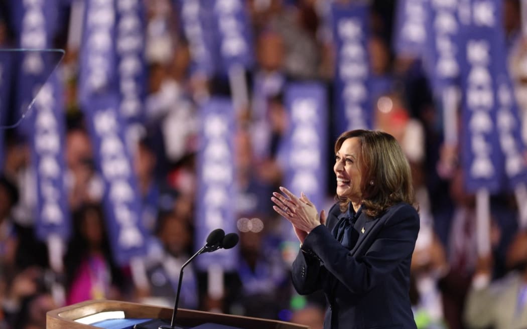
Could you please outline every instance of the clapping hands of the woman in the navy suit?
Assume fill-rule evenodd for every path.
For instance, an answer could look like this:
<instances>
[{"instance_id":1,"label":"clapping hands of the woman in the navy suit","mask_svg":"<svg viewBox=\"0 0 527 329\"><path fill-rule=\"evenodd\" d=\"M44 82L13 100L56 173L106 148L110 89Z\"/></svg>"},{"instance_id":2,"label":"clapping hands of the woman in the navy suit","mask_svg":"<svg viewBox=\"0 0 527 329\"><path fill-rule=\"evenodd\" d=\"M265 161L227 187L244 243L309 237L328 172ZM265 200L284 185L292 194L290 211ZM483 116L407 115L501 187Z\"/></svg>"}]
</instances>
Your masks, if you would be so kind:
<instances>
[{"instance_id":1,"label":"clapping hands of the woman in the navy suit","mask_svg":"<svg viewBox=\"0 0 527 329\"><path fill-rule=\"evenodd\" d=\"M304 193L300 198L292 194L287 188L280 187L285 195L273 192L272 202L276 205L272 208L281 216L284 216L296 228L306 233L311 232L313 228L324 224L325 216L318 214L317 208Z\"/></svg>"}]
</instances>

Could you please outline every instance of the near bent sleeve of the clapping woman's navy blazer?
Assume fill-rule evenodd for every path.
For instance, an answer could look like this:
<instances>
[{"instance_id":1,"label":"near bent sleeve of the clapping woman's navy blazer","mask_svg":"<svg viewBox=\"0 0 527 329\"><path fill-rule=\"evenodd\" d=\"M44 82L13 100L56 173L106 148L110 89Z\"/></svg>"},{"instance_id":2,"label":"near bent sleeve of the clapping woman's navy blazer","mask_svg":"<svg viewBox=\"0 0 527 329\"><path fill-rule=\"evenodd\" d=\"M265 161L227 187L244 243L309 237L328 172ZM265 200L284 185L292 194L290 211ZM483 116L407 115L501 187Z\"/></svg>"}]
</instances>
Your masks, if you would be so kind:
<instances>
[{"instance_id":1,"label":"near bent sleeve of the clapping woman's navy blazer","mask_svg":"<svg viewBox=\"0 0 527 329\"><path fill-rule=\"evenodd\" d=\"M376 221L383 225L365 253L352 256L323 225L317 226L304 241L324 263L327 271L352 293L372 290L414 251L419 216L415 209L404 204L387 212Z\"/></svg>"}]
</instances>

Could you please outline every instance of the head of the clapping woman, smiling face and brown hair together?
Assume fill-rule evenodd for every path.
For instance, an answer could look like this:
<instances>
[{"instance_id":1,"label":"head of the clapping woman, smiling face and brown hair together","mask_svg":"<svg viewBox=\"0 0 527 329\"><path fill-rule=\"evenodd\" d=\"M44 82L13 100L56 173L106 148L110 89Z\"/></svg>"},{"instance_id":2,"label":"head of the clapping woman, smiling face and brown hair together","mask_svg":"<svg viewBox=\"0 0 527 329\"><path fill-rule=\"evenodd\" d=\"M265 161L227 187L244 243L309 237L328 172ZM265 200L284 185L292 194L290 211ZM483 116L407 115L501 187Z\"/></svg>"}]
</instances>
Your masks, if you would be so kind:
<instances>
[{"instance_id":1,"label":"head of the clapping woman, smiling face and brown hair together","mask_svg":"<svg viewBox=\"0 0 527 329\"><path fill-rule=\"evenodd\" d=\"M410 166L392 135L365 130L341 134L333 170L343 212L349 202L355 211L364 203L365 212L375 217L398 202L415 202ZM350 186L346 180L351 180Z\"/></svg>"}]
</instances>

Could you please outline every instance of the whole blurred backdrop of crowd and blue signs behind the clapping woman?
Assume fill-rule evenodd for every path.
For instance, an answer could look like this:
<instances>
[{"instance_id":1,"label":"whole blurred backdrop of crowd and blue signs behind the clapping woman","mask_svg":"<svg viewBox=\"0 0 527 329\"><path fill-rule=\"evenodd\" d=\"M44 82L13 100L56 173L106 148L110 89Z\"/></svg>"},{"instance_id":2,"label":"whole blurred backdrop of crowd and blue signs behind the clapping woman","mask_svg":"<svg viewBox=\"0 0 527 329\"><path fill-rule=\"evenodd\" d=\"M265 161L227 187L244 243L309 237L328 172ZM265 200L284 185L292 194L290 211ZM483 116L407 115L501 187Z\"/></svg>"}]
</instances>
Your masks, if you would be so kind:
<instances>
[{"instance_id":1,"label":"whole blurred backdrop of crowd and blue signs behind the clapping woman","mask_svg":"<svg viewBox=\"0 0 527 329\"><path fill-rule=\"evenodd\" d=\"M325 297L292 289L298 240L270 197L329 210L334 141L355 128L394 135L412 166L418 327L471 327L473 275L527 264L510 248L527 239L525 11L0 0L0 328L97 298L171 307L215 228L240 243L186 268L180 307L321 328Z\"/></svg>"}]
</instances>

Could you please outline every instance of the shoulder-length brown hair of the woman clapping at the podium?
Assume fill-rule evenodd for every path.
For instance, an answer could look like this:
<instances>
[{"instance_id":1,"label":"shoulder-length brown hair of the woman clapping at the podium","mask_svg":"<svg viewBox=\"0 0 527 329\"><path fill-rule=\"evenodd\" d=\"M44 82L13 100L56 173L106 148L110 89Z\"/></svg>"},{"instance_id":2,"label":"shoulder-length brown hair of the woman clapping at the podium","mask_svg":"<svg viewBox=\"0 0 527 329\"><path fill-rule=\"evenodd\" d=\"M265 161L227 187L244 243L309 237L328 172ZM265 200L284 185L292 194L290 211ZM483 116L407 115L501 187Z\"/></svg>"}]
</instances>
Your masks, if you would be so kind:
<instances>
[{"instance_id":1,"label":"shoulder-length brown hair of the woman clapping at the podium","mask_svg":"<svg viewBox=\"0 0 527 329\"><path fill-rule=\"evenodd\" d=\"M346 139L353 137L358 138L360 142L360 191L364 212L377 217L388 207L399 202L416 206L410 166L396 139L380 131L347 131L337 138L335 153ZM350 200L338 196L337 200L340 203L340 211L345 212Z\"/></svg>"}]
</instances>

